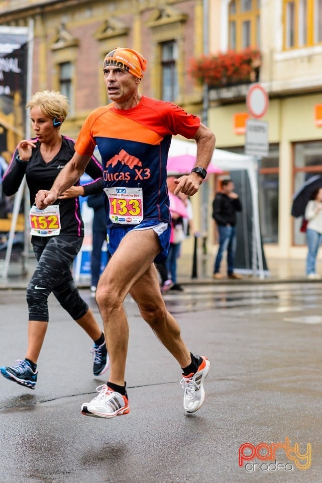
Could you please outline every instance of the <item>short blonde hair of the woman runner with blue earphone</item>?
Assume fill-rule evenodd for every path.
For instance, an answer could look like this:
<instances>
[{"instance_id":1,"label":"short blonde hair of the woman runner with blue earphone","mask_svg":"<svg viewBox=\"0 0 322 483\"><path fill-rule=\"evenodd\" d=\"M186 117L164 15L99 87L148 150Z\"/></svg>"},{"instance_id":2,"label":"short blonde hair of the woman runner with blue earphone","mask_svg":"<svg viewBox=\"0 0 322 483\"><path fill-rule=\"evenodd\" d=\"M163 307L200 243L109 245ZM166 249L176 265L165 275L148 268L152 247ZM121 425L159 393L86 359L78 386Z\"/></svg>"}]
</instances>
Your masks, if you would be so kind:
<instances>
[{"instance_id":1,"label":"short blonde hair of the woman runner with blue earphone","mask_svg":"<svg viewBox=\"0 0 322 483\"><path fill-rule=\"evenodd\" d=\"M26 104L26 109L39 107L52 119L59 118L63 122L69 111L68 99L58 91L36 92Z\"/></svg>"}]
</instances>

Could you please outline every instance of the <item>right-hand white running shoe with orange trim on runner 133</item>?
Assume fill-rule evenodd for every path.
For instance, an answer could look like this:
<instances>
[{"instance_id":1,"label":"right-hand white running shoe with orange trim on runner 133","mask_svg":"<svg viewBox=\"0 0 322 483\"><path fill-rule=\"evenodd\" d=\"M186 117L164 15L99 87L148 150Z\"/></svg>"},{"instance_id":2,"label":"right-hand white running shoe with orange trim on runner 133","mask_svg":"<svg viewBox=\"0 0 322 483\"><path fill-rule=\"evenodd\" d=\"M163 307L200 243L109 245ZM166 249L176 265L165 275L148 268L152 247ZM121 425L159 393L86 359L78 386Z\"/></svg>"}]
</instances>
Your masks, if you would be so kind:
<instances>
[{"instance_id":1,"label":"right-hand white running shoe with orange trim on runner 133","mask_svg":"<svg viewBox=\"0 0 322 483\"><path fill-rule=\"evenodd\" d=\"M184 388L183 407L187 413L194 413L201 408L204 401L203 381L210 369L210 362L201 356L202 362L197 372L185 376L182 374L181 385Z\"/></svg>"}]
</instances>

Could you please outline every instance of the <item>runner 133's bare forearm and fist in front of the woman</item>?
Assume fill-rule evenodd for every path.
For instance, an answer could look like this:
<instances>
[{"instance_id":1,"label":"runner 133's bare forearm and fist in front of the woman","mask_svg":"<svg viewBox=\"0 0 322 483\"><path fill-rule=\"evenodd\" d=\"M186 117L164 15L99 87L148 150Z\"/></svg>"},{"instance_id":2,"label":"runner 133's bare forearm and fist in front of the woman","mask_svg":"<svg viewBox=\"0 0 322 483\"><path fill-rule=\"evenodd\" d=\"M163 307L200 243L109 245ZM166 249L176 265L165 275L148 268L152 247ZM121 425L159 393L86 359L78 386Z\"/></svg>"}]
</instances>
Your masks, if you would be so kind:
<instances>
[{"instance_id":1,"label":"runner 133's bare forearm and fist in front of the woman","mask_svg":"<svg viewBox=\"0 0 322 483\"><path fill-rule=\"evenodd\" d=\"M36 195L36 206L43 210L52 205L64 191L73 186L84 173L91 156L81 155L75 152L70 161L61 170L53 186L48 190L39 190Z\"/></svg>"}]
</instances>

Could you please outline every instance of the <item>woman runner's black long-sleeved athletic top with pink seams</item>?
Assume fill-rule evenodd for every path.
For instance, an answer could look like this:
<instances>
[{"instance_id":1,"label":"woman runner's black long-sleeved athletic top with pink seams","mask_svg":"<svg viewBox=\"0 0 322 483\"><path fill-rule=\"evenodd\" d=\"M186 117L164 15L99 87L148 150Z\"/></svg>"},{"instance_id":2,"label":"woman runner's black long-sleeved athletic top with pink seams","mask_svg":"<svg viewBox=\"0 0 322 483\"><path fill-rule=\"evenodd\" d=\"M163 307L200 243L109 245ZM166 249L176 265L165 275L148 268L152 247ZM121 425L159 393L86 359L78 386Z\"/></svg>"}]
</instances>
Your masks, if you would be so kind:
<instances>
[{"instance_id":1,"label":"woman runner's black long-sleeved athletic top with pink seams","mask_svg":"<svg viewBox=\"0 0 322 483\"><path fill-rule=\"evenodd\" d=\"M7 196L15 194L26 175L27 185L30 191L30 205L35 203L36 194L39 190L50 190L60 170L68 163L75 153L75 141L62 136L62 144L59 152L49 162L45 163L40 153L40 142L34 139L36 147L32 150L31 158L27 163L17 161L18 149L15 150L11 164L3 178L3 192ZM85 169L93 181L82 185L84 196L102 192L103 178L102 168L97 159L92 157ZM79 180L74 186L79 186ZM84 225L80 215L78 197L57 200L61 219L61 234L84 236Z\"/></svg>"}]
</instances>

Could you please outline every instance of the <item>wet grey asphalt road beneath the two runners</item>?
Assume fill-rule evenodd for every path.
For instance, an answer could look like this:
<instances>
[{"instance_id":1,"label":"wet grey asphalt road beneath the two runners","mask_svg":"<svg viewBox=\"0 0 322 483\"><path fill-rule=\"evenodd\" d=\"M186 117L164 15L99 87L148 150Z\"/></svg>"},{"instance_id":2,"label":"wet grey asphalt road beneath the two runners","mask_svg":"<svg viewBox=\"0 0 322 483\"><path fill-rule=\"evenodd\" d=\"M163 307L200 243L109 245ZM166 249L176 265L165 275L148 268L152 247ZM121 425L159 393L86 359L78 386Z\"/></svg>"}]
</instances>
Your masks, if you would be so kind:
<instances>
[{"instance_id":1,"label":"wet grey asphalt road beneath the two runners","mask_svg":"<svg viewBox=\"0 0 322 483\"><path fill-rule=\"evenodd\" d=\"M128 298L131 412L113 420L80 414L106 379L92 376L90 340L50 297L36 390L0 377L0 483L319 483L321 294L320 284L292 283L166 295L190 350L211 362L194 415L183 411L177 363ZM8 365L25 355L25 292L1 290L0 311Z\"/></svg>"}]
</instances>

